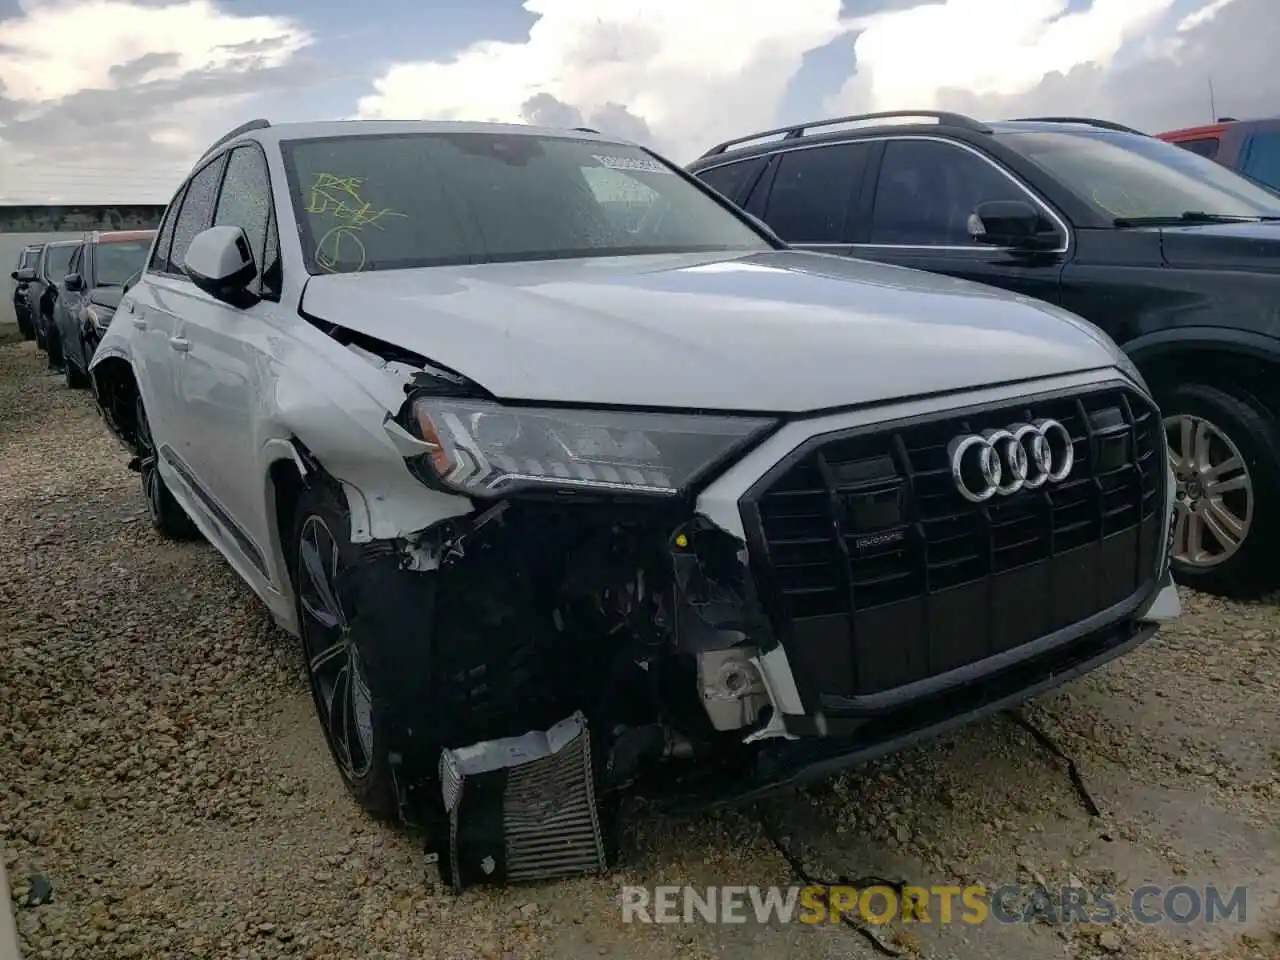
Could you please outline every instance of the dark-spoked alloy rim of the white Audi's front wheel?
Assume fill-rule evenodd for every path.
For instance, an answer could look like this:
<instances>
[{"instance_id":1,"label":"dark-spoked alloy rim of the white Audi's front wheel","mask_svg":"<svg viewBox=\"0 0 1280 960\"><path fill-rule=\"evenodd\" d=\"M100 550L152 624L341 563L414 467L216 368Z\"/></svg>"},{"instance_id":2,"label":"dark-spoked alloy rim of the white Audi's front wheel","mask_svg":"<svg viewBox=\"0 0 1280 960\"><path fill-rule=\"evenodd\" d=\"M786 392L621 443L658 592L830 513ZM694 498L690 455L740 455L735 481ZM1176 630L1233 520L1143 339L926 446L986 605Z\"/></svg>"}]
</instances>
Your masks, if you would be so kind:
<instances>
[{"instance_id":1,"label":"dark-spoked alloy rim of the white Audi's front wheel","mask_svg":"<svg viewBox=\"0 0 1280 960\"><path fill-rule=\"evenodd\" d=\"M325 737L342 772L364 780L372 767L374 709L360 650L334 589L338 541L324 520L307 517L298 543L302 646Z\"/></svg>"}]
</instances>

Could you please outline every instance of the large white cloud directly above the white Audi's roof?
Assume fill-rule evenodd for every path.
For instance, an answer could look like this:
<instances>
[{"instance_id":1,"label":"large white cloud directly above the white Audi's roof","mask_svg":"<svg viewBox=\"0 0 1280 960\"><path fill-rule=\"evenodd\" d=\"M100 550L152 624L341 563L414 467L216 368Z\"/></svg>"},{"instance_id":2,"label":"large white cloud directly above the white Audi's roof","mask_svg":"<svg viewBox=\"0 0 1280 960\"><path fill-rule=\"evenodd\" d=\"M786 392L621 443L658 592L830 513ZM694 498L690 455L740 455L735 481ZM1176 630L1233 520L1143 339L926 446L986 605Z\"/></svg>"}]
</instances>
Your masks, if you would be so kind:
<instances>
[{"instance_id":1,"label":"large white cloud directly above the white Audi's roof","mask_svg":"<svg viewBox=\"0 0 1280 960\"><path fill-rule=\"evenodd\" d=\"M687 159L772 119L805 51L844 31L840 0L527 0L525 9L539 18L525 42L396 64L360 115L570 119Z\"/></svg>"}]
</instances>

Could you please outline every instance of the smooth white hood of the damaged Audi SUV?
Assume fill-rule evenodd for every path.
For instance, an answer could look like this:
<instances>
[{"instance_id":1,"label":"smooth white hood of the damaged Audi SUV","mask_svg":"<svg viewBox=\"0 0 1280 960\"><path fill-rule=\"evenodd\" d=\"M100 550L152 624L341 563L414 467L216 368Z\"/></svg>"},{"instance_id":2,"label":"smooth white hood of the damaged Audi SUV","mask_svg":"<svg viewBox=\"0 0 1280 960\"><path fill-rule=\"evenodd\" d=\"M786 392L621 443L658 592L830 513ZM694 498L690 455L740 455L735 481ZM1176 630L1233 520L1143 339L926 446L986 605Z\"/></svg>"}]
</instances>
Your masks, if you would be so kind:
<instances>
[{"instance_id":1,"label":"smooth white hood of the damaged Audi SUV","mask_svg":"<svg viewBox=\"0 0 1280 960\"><path fill-rule=\"evenodd\" d=\"M1114 364L1041 301L799 251L321 275L302 310L503 399L782 413Z\"/></svg>"}]
</instances>

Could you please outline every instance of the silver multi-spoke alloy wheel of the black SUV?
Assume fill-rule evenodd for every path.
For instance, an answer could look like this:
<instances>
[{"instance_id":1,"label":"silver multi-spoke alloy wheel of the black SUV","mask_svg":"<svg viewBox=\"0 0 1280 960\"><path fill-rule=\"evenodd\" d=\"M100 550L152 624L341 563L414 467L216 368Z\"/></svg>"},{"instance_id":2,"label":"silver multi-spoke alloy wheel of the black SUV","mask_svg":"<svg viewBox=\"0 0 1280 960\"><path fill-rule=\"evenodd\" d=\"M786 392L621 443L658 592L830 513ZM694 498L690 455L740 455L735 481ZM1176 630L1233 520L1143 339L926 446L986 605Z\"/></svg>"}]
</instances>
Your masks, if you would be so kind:
<instances>
[{"instance_id":1,"label":"silver multi-spoke alloy wheel of the black SUV","mask_svg":"<svg viewBox=\"0 0 1280 960\"><path fill-rule=\"evenodd\" d=\"M1240 549L1253 522L1253 480L1240 448L1203 417L1165 417L1174 471L1172 558L1215 567Z\"/></svg>"}]
</instances>

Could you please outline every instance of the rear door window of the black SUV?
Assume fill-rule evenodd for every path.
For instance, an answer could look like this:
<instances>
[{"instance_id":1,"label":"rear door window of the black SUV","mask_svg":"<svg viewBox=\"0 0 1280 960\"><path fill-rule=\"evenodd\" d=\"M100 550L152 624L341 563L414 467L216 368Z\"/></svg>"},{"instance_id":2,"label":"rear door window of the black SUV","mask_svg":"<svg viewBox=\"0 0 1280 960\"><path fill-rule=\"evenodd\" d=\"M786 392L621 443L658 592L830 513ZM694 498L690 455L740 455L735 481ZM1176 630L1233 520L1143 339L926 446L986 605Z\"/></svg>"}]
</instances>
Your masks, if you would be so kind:
<instances>
[{"instance_id":1,"label":"rear door window of the black SUV","mask_svg":"<svg viewBox=\"0 0 1280 960\"><path fill-rule=\"evenodd\" d=\"M870 151L869 143L832 143L782 154L764 221L788 243L850 242L849 206Z\"/></svg>"}]
</instances>

